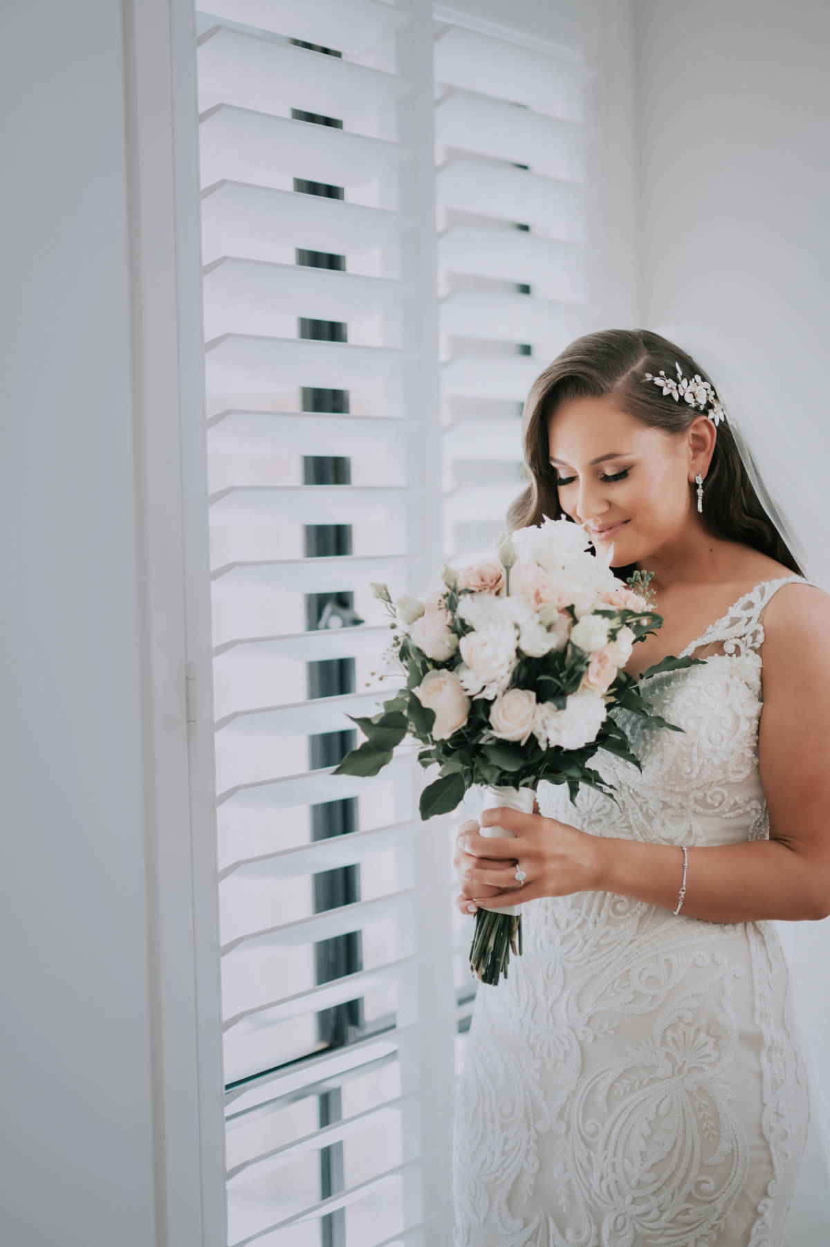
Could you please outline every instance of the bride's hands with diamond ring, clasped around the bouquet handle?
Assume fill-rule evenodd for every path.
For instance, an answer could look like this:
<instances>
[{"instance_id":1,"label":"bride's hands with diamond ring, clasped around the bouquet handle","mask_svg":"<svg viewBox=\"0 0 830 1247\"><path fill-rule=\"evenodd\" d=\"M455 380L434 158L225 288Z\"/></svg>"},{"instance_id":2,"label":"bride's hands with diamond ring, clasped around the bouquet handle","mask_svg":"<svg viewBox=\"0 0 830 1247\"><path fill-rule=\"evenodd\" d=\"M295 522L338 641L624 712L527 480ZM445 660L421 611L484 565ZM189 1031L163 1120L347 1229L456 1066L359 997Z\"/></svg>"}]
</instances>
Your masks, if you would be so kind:
<instances>
[{"instance_id":1,"label":"bride's hands with diamond ring, clasped around the bouquet handle","mask_svg":"<svg viewBox=\"0 0 830 1247\"><path fill-rule=\"evenodd\" d=\"M538 897L567 897L573 892L591 892L599 887L601 837L589 835L568 823L543 814L525 814L507 806L484 809L479 816L480 827L503 827L513 832L508 835L479 835L467 832L459 837L465 853L481 858L506 858L503 868L479 869L471 867L470 878L464 880L464 895L479 899L476 884L503 888L494 897L481 897L487 909L500 905L520 905ZM465 843L466 840L466 843ZM516 867L525 872L525 880L515 878Z\"/></svg>"}]
</instances>

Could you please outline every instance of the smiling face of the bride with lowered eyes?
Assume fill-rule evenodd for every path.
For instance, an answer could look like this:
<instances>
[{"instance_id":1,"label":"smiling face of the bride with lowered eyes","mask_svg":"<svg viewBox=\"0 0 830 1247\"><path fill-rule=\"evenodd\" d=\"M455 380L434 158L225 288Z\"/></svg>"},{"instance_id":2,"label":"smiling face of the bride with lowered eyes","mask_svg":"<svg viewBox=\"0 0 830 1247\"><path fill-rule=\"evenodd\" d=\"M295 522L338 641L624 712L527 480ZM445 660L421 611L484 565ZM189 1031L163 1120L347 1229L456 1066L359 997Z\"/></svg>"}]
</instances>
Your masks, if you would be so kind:
<instances>
[{"instance_id":1,"label":"smiling face of the bride with lowered eyes","mask_svg":"<svg viewBox=\"0 0 830 1247\"><path fill-rule=\"evenodd\" d=\"M643 562L688 526L687 438L641 424L607 397L580 398L551 416L548 448L562 510L599 554L613 544L614 567Z\"/></svg>"}]
</instances>

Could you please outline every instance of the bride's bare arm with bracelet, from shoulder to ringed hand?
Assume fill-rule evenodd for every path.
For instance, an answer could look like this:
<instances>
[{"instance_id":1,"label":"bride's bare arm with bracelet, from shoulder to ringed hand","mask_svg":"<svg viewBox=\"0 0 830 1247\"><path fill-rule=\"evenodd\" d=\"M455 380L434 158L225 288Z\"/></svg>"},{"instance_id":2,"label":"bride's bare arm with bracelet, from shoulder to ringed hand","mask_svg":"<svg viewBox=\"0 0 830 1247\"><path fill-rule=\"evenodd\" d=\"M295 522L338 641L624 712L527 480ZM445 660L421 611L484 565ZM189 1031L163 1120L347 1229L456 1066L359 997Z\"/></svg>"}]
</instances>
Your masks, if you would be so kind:
<instances>
[{"instance_id":1,"label":"bride's bare arm with bracelet, from shoulder to ringed hand","mask_svg":"<svg viewBox=\"0 0 830 1247\"><path fill-rule=\"evenodd\" d=\"M764 628L759 763L770 838L689 847L682 913L709 922L830 914L830 595L813 586L784 586L765 611ZM523 819L520 837L532 862L521 888L506 884L501 872L506 890L487 897L489 907L581 889L677 907L683 878L678 845L586 835L553 819L543 819L548 827L540 834L540 828L530 826L540 817L482 813L482 823L501 822L511 831ZM469 852L479 852L481 840L494 858L507 857L511 844L513 858L523 852L516 840L475 835L471 840L476 847ZM496 845L503 845L503 853ZM497 880L482 874L480 882ZM465 893L475 897L469 888Z\"/></svg>"}]
</instances>

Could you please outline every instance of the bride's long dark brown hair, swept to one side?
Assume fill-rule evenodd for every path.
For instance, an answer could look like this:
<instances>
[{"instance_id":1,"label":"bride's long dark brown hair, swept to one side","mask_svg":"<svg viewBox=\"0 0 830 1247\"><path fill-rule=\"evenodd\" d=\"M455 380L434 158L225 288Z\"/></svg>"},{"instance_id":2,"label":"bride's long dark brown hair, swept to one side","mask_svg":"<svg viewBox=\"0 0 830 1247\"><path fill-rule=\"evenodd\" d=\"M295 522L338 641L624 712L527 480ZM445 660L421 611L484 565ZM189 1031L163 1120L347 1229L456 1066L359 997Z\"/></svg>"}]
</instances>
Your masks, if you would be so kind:
<instances>
[{"instance_id":1,"label":"bride's long dark brown hair, swept to one side","mask_svg":"<svg viewBox=\"0 0 830 1247\"><path fill-rule=\"evenodd\" d=\"M672 402L644 377L646 373L657 375L663 369L667 377L675 378L675 360L684 377L697 373L717 393L718 387L692 355L649 329L586 333L540 373L522 413L525 479L528 485L507 511L511 532L541 524L545 515L558 519L563 514L548 449L548 421L560 403L576 398L613 397L621 410L649 428L678 434L688 429L692 420L700 415L700 409L683 400ZM705 489L702 521L713 536L739 541L803 575L753 489L729 428L729 412L718 425Z\"/></svg>"}]
</instances>

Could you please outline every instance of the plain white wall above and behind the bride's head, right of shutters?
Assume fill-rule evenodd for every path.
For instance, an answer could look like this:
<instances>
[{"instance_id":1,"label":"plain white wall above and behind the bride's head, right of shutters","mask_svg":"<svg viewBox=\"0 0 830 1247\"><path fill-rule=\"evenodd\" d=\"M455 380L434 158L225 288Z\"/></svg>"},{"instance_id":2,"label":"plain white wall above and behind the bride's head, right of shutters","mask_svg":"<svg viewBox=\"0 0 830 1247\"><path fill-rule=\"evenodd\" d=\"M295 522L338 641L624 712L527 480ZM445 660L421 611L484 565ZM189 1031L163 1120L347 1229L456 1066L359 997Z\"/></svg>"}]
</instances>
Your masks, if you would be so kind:
<instances>
[{"instance_id":1,"label":"plain white wall above and behind the bride's head, right of shutters","mask_svg":"<svg viewBox=\"0 0 830 1247\"><path fill-rule=\"evenodd\" d=\"M739 360L770 489L818 516L830 577L830 5L634 0L633 47L641 323L705 324Z\"/></svg>"}]
</instances>

